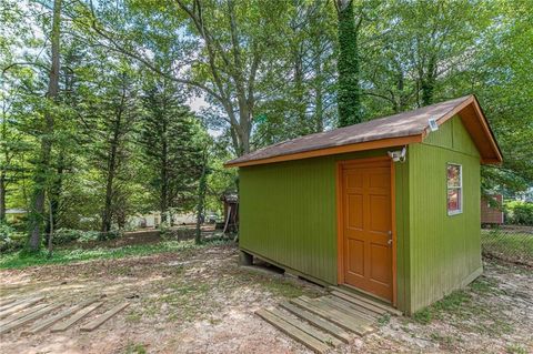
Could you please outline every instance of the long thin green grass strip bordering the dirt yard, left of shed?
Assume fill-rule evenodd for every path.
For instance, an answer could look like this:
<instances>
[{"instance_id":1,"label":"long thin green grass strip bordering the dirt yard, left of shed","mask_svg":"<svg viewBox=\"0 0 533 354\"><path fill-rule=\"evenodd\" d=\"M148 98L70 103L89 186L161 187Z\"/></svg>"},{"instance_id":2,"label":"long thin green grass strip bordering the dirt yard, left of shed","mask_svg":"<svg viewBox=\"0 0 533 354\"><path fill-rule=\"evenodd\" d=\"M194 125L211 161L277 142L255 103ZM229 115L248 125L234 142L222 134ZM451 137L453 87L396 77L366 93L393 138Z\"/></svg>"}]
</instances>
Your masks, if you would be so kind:
<instances>
[{"instance_id":1,"label":"long thin green grass strip bordering the dirt yard, left of shed","mask_svg":"<svg viewBox=\"0 0 533 354\"><path fill-rule=\"evenodd\" d=\"M223 244L227 241L212 241L195 245L193 241L165 241L157 244L125 245L115 249L93 250L57 250L52 257L48 257L47 251L37 254L24 255L21 252L0 256L0 269L22 269L33 265L67 264L80 261L122 259L128 256L143 256L158 253L180 252L184 250L200 249L205 245Z\"/></svg>"}]
</instances>

